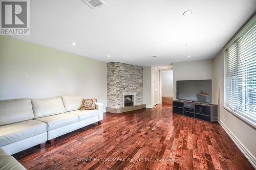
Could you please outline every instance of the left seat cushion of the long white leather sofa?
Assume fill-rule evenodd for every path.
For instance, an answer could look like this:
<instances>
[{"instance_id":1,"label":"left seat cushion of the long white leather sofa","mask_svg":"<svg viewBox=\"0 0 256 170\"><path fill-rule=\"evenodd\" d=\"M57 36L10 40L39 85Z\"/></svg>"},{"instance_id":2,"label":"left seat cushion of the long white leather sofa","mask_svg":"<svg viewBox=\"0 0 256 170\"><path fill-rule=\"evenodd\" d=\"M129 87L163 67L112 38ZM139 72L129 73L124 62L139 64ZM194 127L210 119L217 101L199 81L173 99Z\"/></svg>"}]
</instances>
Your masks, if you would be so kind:
<instances>
[{"instance_id":1,"label":"left seat cushion of the long white leather sofa","mask_svg":"<svg viewBox=\"0 0 256 170\"><path fill-rule=\"evenodd\" d=\"M37 120L0 126L0 147L46 132L46 124Z\"/></svg>"}]
</instances>

